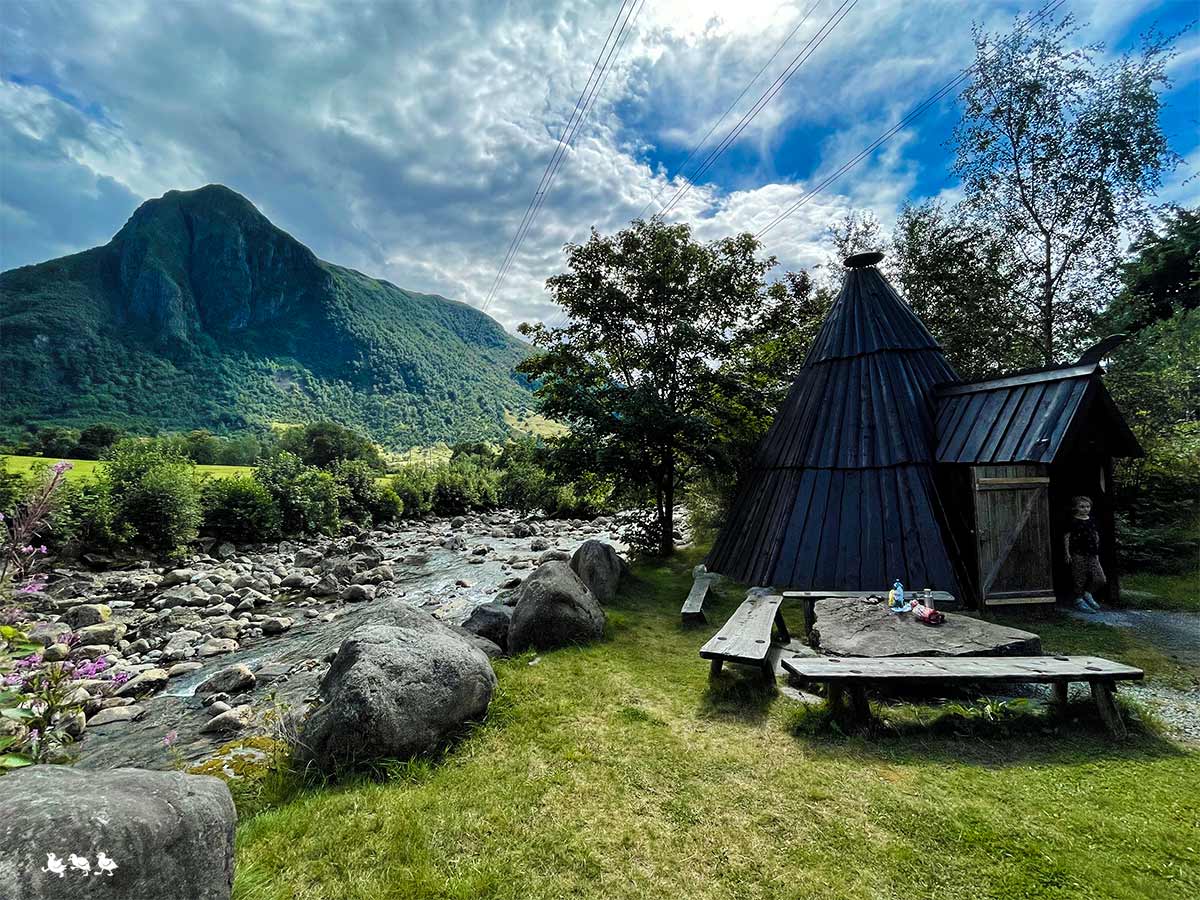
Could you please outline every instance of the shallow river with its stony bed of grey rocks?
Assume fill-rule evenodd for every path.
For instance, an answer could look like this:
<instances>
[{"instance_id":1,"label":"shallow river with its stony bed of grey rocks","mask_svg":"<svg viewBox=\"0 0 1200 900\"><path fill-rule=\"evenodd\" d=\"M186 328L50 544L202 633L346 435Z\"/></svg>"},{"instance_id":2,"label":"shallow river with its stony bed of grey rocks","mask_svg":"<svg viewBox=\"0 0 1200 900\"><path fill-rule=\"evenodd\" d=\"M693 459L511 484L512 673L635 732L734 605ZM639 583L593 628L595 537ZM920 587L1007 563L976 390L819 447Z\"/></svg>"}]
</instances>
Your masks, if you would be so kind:
<instances>
[{"instance_id":1,"label":"shallow river with its stony bed of grey rocks","mask_svg":"<svg viewBox=\"0 0 1200 900\"><path fill-rule=\"evenodd\" d=\"M380 604L458 624L589 539L622 548L607 518L496 512L336 540L223 544L169 569L60 568L32 635L47 660L100 670L78 682L78 766L169 768L302 712L332 653Z\"/></svg>"}]
</instances>

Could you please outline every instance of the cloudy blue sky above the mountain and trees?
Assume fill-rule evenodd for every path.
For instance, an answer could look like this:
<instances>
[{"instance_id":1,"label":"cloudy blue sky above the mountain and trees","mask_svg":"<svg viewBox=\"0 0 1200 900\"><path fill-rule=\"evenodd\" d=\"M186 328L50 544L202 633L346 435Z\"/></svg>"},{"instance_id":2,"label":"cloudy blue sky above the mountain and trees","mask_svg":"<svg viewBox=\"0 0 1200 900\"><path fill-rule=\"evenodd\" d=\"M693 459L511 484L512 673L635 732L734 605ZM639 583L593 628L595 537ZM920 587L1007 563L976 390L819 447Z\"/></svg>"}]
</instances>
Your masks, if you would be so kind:
<instances>
[{"instance_id":1,"label":"cloudy blue sky above the mountain and trees","mask_svg":"<svg viewBox=\"0 0 1200 900\"><path fill-rule=\"evenodd\" d=\"M685 186L680 163L793 30L697 158L845 13L668 214L697 238L757 232L970 65L972 23L1007 30L1040 5L646 0L488 313L553 320L563 245ZM145 199L220 182L323 259L484 306L620 7L0 0L0 269L104 244ZM1117 54L1200 2L1061 11ZM1186 205L1200 203L1198 31L1163 98L1182 163L1159 199ZM955 199L956 120L950 95L769 232L775 274L826 260L851 209L888 226L905 202Z\"/></svg>"}]
</instances>

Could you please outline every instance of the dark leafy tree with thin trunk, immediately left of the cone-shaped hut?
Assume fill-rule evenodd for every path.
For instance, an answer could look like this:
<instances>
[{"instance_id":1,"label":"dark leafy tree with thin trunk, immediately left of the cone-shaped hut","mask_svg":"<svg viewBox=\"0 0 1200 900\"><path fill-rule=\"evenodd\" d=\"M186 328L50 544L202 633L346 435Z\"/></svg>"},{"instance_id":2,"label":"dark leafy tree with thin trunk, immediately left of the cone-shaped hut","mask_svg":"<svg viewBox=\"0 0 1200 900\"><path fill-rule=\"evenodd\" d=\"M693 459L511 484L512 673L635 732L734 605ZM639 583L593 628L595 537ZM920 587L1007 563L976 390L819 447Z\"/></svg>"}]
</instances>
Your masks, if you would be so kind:
<instances>
[{"instance_id":1,"label":"dark leafy tree with thin trunk, immediately left of the cone-shaped hut","mask_svg":"<svg viewBox=\"0 0 1200 900\"><path fill-rule=\"evenodd\" d=\"M540 412L570 428L552 443L577 472L653 506L664 556L679 492L710 458L716 401L736 390L722 367L763 301L774 260L757 250L749 234L701 244L658 220L593 232L546 282L568 324L520 329L540 353L518 371L539 384Z\"/></svg>"}]
</instances>

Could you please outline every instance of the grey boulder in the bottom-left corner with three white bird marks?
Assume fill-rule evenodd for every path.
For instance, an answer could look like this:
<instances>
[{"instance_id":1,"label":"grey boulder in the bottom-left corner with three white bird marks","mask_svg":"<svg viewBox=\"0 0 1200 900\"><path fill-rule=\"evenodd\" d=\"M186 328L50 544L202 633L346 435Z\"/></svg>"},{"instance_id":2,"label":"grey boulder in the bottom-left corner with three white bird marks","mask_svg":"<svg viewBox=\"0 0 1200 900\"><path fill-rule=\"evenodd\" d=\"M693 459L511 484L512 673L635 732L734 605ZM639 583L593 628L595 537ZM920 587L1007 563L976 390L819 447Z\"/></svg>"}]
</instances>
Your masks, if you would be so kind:
<instances>
[{"instance_id":1,"label":"grey boulder in the bottom-left corner with three white bird marks","mask_svg":"<svg viewBox=\"0 0 1200 900\"><path fill-rule=\"evenodd\" d=\"M236 812L208 775L30 766L4 778L0 896L227 900Z\"/></svg>"}]
</instances>

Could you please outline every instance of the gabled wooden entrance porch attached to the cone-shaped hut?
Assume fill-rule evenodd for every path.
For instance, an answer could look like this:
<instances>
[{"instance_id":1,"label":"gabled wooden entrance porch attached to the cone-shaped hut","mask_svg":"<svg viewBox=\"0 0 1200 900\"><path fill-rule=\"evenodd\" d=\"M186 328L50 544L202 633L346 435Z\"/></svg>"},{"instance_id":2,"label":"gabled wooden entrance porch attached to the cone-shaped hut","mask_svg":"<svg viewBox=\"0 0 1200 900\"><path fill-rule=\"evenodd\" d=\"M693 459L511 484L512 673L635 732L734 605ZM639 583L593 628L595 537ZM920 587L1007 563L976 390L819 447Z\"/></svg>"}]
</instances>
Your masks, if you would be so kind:
<instances>
[{"instance_id":1,"label":"gabled wooden entrance porch attached to the cone-shaped hut","mask_svg":"<svg viewBox=\"0 0 1200 900\"><path fill-rule=\"evenodd\" d=\"M1120 594L1112 458L1141 448L1098 362L942 385L937 481L961 541L962 582L983 606L1069 599L1063 533L1070 499L1092 498L1109 596Z\"/></svg>"}]
</instances>

